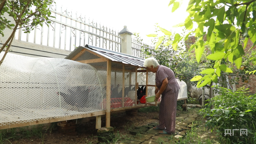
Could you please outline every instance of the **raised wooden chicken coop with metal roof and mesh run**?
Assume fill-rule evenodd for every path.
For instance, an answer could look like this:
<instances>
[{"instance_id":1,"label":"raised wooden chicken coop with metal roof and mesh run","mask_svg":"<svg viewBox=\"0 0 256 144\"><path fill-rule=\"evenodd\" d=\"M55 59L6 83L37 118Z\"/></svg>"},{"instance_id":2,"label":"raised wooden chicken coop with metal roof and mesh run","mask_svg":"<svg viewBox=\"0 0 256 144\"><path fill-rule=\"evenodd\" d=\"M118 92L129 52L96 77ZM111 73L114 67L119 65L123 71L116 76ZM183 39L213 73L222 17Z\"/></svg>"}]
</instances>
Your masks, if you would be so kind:
<instances>
[{"instance_id":1,"label":"raised wooden chicken coop with metal roof and mesh run","mask_svg":"<svg viewBox=\"0 0 256 144\"><path fill-rule=\"evenodd\" d=\"M0 54L0 56L3 54ZM86 45L65 59L8 53L1 65L0 129L52 123L156 106L141 101L155 91L155 74L144 59ZM187 98L180 85L178 100ZM100 123L96 128L100 128Z\"/></svg>"}]
</instances>

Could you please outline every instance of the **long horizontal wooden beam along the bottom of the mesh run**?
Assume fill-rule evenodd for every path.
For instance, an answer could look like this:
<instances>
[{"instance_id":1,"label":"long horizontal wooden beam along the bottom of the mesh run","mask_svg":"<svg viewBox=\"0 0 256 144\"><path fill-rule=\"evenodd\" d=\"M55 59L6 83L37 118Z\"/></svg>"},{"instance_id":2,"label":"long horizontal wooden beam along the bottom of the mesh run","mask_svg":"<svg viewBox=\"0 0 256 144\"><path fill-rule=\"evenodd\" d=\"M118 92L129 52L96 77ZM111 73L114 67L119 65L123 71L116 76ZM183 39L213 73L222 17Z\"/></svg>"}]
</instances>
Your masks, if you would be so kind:
<instances>
[{"instance_id":1,"label":"long horizontal wooden beam along the bottom of the mesh run","mask_svg":"<svg viewBox=\"0 0 256 144\"><path fill-rule=\"evenodd\" d=\"M74 120L74 119L78 119L78 118L98 116L98 115L103 115L103 114L105 114L104 111L98 111L98 112L93 112L93 113L89 113L89 114L80 114L80 115L67 116L67 117L61 117L61 118L49 118L47 120L33 121L33 122L27 122L27 123L14 123L14 124L8 123L8 125L0 126L0 130L22 127L22 126L30 126L30 125L36 125L36 124L44 124L44 123L61 122L61 121L66 121L66 120Z\"/></svg>"}]
</instances>

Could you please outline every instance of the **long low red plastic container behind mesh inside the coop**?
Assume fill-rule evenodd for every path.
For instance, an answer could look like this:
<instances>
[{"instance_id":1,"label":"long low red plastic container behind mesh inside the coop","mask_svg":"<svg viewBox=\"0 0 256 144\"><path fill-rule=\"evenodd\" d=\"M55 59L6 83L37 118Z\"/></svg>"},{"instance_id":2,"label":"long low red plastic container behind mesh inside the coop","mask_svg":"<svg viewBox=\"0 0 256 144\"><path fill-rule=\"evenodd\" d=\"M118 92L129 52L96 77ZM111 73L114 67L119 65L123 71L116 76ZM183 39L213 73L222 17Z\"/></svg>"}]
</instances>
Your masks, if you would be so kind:
<instances>
[{"instance_id":1,"label":"long low red plastic container behind mesh inside the coop","mask_svg":"<svg viewBox=\"0 0 256 144\"><path fill-rule=\"evenodd\" d=\"M124 107L132 106L135 102L130 97L124 97ZM102 105L102 103L101 103ZM103 99L103 106L106 109L106 98ZM111 98L110 108L122 107L122 98Z\"/></svg>"}]
</instances>

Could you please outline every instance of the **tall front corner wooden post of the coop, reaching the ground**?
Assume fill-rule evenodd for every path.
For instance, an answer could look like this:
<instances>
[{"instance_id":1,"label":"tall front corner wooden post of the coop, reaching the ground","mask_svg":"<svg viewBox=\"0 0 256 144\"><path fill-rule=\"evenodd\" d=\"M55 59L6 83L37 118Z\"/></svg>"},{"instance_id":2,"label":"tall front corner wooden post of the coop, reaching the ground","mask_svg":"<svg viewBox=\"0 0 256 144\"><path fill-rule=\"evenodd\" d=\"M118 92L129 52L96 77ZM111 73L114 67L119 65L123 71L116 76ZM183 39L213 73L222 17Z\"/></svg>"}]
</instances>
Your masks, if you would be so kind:
<instances>
[{"instance_id":1,"label":"tall front corner wooden post of the coop, reaching the ground","mask_svg":"<svg viewBox=\"0 0 256 144\"><path fill-rule=\"evenodd\" d=\"M106 128L110 127L110 95L111 95L111 60L107 60L107 109Z\"/></svg>"}]
</instances>

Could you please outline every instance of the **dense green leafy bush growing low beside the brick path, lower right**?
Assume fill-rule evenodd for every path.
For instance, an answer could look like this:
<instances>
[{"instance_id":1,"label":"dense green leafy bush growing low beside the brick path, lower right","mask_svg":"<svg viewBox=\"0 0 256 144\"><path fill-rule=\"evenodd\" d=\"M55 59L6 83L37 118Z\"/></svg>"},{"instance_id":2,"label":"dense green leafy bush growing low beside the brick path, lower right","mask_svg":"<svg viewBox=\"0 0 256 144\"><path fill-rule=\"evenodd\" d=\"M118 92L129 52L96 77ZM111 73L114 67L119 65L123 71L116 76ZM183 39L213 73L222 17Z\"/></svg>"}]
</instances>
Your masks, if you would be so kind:
<instances>
[{"instance_id":1,"label":"dense green leafy bush growing low beside the brick path, lower right","mask_svg":"<svg viewBox=\"0 0 256 144\"><path fill-rule=\"evenodd\" d=\"M248 89L240 88L233 92L223 87L216 87L220 90L221 95L211 99L206 104L201 113L207 118L206 126L208 130L217 129L217 132L230 142L247 141L254 143L256 129L256 95L250 95ZM209 105L214 105L210 109ZM234 136L224 135L225 129L248 129L248 135L240 136L235 133Z\"/></svg>"}]
</instances>

